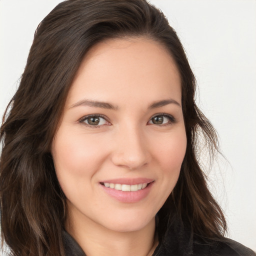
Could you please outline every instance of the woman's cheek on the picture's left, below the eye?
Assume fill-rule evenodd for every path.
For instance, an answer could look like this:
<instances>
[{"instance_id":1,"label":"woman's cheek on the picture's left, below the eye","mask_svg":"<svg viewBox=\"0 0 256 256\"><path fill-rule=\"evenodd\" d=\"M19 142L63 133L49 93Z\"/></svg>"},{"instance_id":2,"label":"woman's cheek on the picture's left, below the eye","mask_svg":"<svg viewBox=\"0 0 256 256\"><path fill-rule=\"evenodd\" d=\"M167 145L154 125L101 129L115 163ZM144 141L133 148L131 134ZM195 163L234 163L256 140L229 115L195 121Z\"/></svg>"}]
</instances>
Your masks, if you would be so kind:
<instances>
[{"instance_id":1,"label":"woman's cheek on the picture's left, below the eye","mask_svg":"<svg viewBox=\"0 0 256 256\"><path fill-rule=\"evenodd\" d=\"M66 135L70 134L70 135ZM101 150L99 150L101 148ZM104 158L100 140L59 129L52 143L52 156L59 181L92 176ZM76 180L77 181L77 180Z\"/></svg>"}]
</instances>

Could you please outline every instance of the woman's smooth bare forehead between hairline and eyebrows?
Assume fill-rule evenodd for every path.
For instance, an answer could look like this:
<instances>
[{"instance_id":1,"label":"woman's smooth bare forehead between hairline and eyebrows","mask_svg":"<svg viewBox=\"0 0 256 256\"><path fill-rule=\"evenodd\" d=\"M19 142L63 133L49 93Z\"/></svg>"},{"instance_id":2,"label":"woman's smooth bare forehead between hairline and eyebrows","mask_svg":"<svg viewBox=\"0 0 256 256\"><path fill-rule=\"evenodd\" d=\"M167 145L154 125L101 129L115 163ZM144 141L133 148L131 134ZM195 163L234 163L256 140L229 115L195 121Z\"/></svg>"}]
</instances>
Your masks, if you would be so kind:
<instances>
[{"instance_id":1,"label":"woman's smooth bare forehead between hairline and eyebrows","mask_svg":"<svg viewBox=\"0 0 256 256\"><path fill-rule=\"evenodd\" d=\"M146 38L109 39L87 52L67 101L82 96L125 101L145 95L157 100L166 94L181 100L179 72L166 48Z\"/></svg>"}]
</instances>

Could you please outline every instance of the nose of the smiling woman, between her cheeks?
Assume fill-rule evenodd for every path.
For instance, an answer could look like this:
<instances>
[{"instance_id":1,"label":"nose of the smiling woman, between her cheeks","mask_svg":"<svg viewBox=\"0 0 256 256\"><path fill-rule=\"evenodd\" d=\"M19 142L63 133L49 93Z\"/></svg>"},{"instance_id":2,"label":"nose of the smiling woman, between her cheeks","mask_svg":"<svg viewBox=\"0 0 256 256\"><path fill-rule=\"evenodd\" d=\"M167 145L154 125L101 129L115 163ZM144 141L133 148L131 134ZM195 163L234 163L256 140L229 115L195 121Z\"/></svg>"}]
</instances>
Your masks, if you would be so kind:
<instances>
[{"instance_id":1,"label":"nose of the smiling woman, between her cheeks","mask_svg":"<svg viewBox=\"0 0 256 256\"><path fill-rule=\"evenodd\" d=\"M111 160L115 165L128 169L138 169L149 162L148 144L139 128L120 127L114 140L115 146Z\"/></svg>"}]
</instances>

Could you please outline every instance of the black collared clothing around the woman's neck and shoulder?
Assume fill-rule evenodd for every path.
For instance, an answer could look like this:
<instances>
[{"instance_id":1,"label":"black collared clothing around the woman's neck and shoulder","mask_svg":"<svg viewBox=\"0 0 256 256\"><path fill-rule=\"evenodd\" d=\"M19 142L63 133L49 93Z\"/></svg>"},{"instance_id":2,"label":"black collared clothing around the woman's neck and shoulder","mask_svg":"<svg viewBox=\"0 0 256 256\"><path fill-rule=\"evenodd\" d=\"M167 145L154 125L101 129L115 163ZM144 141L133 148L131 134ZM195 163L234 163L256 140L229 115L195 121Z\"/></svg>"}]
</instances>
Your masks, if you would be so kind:
<instances>
[{"instance_id":1,"label":"black collared clothing around the woman's neck and shoulder","mask_svg":"<svg viewBox=\"0 0 256 256\"><path fill-rule=\"evenodd\" d=\"M159 244L153 256L256 256L251 249L234 240L224 237L218 241L202 239L181 225L171 225L163 235L159 235L158 232ZM63 231L63 240L65 256L85 256L66 231Z\"/></svg>"}]
</instances>

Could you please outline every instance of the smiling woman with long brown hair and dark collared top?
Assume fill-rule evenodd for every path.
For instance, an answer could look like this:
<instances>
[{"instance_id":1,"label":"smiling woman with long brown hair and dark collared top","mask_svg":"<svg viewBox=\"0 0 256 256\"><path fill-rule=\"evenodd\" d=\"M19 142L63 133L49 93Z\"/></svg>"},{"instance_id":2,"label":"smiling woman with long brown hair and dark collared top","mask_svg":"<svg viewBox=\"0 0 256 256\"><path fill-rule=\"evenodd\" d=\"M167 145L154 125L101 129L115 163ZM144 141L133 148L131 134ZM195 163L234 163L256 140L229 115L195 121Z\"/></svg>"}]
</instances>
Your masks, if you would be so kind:
<instances>
[{"instance_id":1,"label":"smiling woman with long brown hair and dark collared top","mask_svg":"<svg viewBox=\"0 0 256 256\"><path fill-rule=\"evenodd\" d=\"M254 255L223 237L196 159L214 128L164 15L67 0L39 24L1 126L2 239L13 255Z\"/></svg>"}]
</instances>

